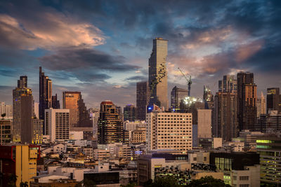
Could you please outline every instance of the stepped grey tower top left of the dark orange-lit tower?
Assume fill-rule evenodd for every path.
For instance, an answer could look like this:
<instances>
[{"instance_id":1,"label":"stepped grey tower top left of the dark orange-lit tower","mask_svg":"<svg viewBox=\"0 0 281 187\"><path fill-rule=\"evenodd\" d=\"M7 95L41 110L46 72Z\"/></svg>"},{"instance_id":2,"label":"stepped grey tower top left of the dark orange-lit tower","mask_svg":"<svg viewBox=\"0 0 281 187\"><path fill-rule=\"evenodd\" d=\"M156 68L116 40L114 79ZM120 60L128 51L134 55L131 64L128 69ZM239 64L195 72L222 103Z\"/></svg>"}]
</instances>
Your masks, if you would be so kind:
<instances>
[{"instance_id":1,"label":"stepped grey tower top left of the dark orange-lit tower","mask_svg":"<svg viewBox=\"0 0 281 187\"><path fill-rule=\"evenodd\" d=\"M223 76L223 80L218 81L218 92L236 92L237 80L235 76Z\"/></svg>"}]
</instances>

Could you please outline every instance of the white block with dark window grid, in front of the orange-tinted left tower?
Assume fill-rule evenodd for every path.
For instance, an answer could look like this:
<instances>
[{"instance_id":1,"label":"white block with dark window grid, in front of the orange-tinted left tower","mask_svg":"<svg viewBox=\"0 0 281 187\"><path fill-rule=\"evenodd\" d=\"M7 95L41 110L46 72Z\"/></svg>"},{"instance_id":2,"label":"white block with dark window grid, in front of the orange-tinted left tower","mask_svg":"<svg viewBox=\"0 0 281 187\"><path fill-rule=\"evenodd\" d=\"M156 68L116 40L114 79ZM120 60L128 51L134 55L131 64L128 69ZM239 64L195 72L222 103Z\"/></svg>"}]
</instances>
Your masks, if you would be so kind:
<instances>
[{"instance_id":1,"label":"white block with dark window grid, in front of the orange-tinted left tower","mask_svg":"<svg viewBox=\"0 0 281 187\"><path fill-rule=\"evenodd\" d=\"M45 128L52 142L70 139L70 109L46 109Z\"/></svg>"}]
</instances>

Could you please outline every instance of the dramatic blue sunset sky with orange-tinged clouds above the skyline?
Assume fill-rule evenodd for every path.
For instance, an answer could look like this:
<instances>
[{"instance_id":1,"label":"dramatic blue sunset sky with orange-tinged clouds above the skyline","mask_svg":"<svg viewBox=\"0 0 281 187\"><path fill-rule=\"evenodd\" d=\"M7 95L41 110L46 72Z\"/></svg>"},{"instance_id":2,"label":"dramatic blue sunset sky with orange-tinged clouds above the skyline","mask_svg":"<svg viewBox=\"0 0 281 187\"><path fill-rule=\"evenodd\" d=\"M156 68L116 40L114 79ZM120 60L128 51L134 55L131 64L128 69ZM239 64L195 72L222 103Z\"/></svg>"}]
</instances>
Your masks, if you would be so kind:
<instances>
[{"instance_id":1,"label":"dramatic blue sunset sky with orange-tinged clouds above the skyline","mask_svg":"<svg viewBox=\"0 0 281 187\"><path fill-rule=\"evenodd\" d=\"M136 103L148 79L152 39L168 39L169 92L185 88L178 67L203 85L254 72L258 91L281 85L281 1L0 1L0 101L11 104L21 75L39 98L39 66L53 95L81 91L88 107Z\"/></svg>"}]
</instances>

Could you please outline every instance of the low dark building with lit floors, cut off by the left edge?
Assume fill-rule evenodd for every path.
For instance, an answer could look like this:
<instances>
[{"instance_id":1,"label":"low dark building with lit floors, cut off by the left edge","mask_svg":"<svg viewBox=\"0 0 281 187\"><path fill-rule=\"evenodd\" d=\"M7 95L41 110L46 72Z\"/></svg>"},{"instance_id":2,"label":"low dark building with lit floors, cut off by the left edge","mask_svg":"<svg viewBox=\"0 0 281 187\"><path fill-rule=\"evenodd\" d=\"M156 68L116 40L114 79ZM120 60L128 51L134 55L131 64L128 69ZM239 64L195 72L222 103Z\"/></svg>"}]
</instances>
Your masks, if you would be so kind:
<instances>
[{"instance_id":1,"label":"low dark building with lit floors, cut off by the left edge","mask_svg":"<svg viewBox=\"0 0 281 187\"><path fill-rule=\"evenodd\" d=\"M0 119L0 145L8 144L12 141L12 120Z\"/></svg>"}]
</instances>

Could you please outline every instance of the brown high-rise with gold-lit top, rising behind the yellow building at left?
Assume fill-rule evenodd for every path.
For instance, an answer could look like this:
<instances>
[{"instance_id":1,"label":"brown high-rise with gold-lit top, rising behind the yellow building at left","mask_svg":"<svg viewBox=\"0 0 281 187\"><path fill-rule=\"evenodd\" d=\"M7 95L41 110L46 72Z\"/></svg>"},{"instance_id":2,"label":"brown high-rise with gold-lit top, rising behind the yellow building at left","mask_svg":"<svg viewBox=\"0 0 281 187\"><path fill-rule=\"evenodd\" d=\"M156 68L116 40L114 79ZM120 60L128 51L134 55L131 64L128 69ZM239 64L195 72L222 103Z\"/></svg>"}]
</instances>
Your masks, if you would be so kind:
<instances>
[{"instance_id":1,"label":"brown high-rise with gold-lit top, rising behind the yellow building at left","mask_svg":"<svg viewBox=\"0 0 281 187\"><path fill-rule=\"evenodd\" d=\"M22 87L13 90L13 141L15 142L32 143L33 102L30 88Z\"/></svg>"}]
</instances>

